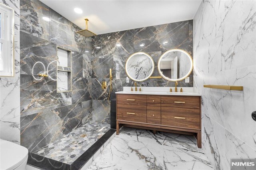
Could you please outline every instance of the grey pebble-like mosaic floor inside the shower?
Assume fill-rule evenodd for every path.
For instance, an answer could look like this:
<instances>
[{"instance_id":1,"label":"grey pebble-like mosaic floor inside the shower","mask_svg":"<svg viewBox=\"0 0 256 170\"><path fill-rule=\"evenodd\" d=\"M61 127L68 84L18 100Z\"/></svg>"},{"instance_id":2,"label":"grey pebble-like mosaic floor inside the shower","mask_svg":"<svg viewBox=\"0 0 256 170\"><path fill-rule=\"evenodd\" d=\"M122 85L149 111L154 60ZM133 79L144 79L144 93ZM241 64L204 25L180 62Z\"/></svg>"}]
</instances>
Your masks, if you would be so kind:
<instances>
[{"instance_id":1,"label":"grey pebble-like mosaic floor inside the shower","mask_svg":"<svg viewBox=\"0 0 256 170\"><path fill-rule=\"evenodd\" d=\"M36 150L34 154L72 164L109 129L109 123L89 121L62 138Z\"/></svg>"}]
</instances>

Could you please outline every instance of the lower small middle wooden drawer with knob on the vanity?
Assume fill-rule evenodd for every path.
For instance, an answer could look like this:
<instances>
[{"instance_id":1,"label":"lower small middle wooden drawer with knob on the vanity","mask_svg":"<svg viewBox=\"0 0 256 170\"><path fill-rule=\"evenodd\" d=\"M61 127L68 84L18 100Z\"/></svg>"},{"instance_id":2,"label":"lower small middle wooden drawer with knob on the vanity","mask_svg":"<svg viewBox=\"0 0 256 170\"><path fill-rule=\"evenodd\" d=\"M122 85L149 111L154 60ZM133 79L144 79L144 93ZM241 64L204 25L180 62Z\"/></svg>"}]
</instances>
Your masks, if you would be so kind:
<instances>
[{"instance_id":1,"label":"lower small middle wooden drawer with knob on the vanity","mask_svg":"<svg viewBox=\"0 0 256 170\"><path fill-rule=\"evenodd\" d=\"M161 125L161 107L147 106L147 123Z\"/></svg>"}]
</instances>

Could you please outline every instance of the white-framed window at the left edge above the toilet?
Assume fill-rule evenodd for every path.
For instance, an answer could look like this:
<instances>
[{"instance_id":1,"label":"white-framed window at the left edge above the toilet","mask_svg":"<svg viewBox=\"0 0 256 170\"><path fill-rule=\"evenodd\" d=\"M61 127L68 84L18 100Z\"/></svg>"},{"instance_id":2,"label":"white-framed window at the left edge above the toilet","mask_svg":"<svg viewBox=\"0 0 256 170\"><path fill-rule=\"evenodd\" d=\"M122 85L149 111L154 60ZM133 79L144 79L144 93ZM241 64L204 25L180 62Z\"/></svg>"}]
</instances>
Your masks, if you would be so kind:
<instances>
[{"instance_id":1,"label":"white-framed window at the left edge above the toilet","mask_svg":"<svg viewBox=\"0 0 256 170\"><path fill-rule=\"evenodd\" d=\"M14 10L0 3L0 76L14 76Z\"/></svg>"}]
</instances>

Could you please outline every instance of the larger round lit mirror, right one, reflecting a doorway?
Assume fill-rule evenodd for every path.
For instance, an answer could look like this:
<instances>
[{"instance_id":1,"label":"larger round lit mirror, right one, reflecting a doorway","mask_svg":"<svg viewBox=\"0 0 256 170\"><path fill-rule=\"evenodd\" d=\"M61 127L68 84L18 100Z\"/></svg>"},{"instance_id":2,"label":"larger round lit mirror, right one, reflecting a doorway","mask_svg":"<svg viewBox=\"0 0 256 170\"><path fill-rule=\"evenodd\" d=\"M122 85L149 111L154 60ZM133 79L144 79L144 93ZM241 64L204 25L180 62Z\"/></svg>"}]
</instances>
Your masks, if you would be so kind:
<instances>
[{"instance_id":1,"label":"larger round lit mirror, right one, reflecting a doorway","mask_svg":"<svg viewBox=\"0 0 256 170\"><path fill-rule=\"evenodd\" d=\"M158 71L169 81L180 81L188 77L193 69L193 59L182 49L171 49L158 60Z\"/></svg>"}]
</instances>

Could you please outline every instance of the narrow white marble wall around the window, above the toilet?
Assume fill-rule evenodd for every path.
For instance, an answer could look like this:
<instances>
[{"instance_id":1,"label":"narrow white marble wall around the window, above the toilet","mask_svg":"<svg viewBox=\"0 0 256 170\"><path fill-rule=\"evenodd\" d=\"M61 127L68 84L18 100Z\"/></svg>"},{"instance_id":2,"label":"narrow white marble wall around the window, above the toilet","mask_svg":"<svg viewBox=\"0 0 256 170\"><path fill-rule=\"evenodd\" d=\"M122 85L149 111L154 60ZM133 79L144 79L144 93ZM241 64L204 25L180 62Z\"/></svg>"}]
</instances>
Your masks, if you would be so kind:
<instances>
[{"instance_id":1,"label":"narrow white marble wall around the window, above the toilet","mask_svg":"<svg viewBox=\"0 0 256 170\"><path fill-rule=\"evenodd\" d=\"M20 0L0 0L14 9L14 77L0 77L0 138L20 144Z\"/></svg>"}]
</instances>

